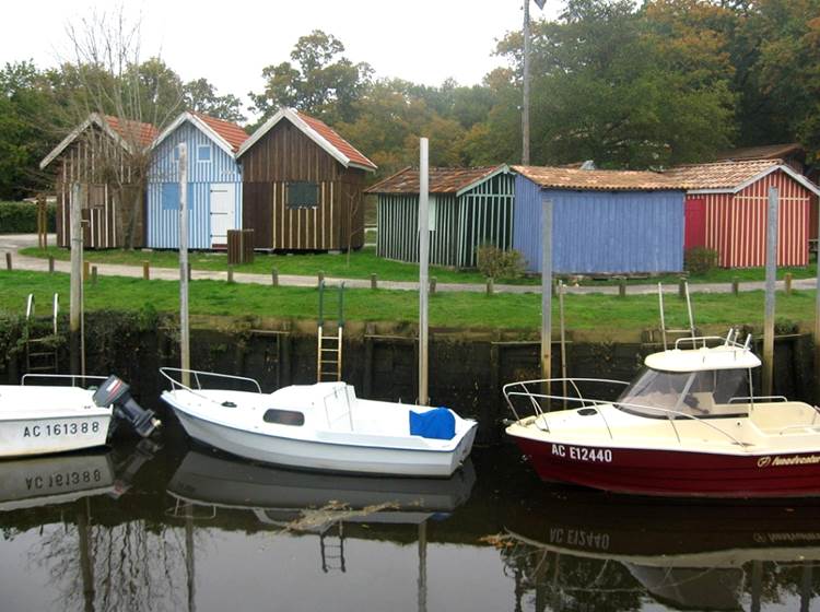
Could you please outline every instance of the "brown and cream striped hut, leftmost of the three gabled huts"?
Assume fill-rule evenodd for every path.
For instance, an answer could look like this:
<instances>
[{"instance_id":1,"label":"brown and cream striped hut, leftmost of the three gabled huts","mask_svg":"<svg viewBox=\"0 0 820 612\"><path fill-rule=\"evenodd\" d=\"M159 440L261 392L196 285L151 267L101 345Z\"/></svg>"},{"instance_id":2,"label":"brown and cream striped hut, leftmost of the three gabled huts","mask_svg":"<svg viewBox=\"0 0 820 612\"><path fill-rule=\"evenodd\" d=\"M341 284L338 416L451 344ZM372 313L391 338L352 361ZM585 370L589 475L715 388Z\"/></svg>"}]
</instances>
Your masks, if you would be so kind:
<instances>
[{"instance_id":1,"label":"brown and cream striped hut, leftmost of the three gabled huts","mask_svg":"<svg viewBox=\"0 0 820 612\"><path fill-rule=\"evenodd\" d=\"M92 113L40 162L40 169L58 165L58 246L70 246L71 198L77 185L85 247L144 245L144 164L137 157L147 154L156 133L150 123Z\"/></svg>"}]
</instances>

